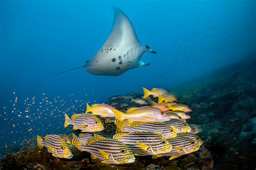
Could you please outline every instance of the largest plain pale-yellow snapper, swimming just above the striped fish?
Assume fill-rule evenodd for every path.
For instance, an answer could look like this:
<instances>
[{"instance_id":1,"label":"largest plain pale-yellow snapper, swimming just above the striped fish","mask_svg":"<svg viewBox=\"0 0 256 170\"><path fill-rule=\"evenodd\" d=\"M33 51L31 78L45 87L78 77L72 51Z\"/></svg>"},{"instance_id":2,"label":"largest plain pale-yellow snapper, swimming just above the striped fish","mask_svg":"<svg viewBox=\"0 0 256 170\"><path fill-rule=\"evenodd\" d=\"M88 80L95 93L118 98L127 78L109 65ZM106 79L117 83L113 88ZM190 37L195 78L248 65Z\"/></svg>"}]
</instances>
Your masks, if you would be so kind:
<instances>
[{"instance_id":1,"label":"largest plain pale-yellow snapper, swimming just above the striped fish","mask_svg":"<svg viewBox=\"0 0 256 170\"><path fill-rule=\"evenodd\" d=\"M138 108L129 108L126 113L113 109L114 117L121 121L128 119L131 121L168 121L169 115L159 110L158 108L145 106Z\"/></svg>"}]
</instances>

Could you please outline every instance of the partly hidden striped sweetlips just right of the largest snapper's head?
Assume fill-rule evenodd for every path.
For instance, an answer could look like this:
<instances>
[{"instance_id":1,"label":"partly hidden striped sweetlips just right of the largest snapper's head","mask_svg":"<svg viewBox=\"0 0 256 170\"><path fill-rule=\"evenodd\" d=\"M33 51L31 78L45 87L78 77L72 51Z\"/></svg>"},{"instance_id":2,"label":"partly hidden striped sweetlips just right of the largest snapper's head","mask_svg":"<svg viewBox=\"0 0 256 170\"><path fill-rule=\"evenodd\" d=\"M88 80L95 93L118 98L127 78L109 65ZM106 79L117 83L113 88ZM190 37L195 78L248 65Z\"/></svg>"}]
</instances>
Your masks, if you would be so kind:
<instances>
[{"instance_id":1,"label":"partly hidden striped sweetlips just right of the largest snapper's head","mask_svg":"<svg viewBox=\"0 0 256 170\"><path fill-rule=\"evenodd\" d=\"M175 128L177 133L190 132L191 128L184 121L180 119L171 119L164 122L167 125L170 125Z\"/></svg>"}]
</instances>

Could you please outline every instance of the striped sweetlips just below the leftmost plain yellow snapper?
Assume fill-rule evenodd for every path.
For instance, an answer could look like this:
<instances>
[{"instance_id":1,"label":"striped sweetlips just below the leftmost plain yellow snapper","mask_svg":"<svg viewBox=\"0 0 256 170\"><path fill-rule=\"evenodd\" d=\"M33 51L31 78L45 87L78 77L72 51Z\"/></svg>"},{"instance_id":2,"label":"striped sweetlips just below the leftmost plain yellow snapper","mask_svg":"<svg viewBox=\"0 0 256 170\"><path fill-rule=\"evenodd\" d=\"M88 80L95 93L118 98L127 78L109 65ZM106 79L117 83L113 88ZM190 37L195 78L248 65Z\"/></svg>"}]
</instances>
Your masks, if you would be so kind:
<instances>
[{"instance_id":1,"label":"striped sweetlips just below the leftmost plain yellow snapper","mask_svg":"<svg viewBox=\"0 0 256 170\"><path fill-rule=\"evenodd\" d=\"M98 132L103 131L102 121L92 114L73 114L71 119L65 113L64 127L73 125L73 130L81 130L81 132Z\"/></svg>"}]
</instances>

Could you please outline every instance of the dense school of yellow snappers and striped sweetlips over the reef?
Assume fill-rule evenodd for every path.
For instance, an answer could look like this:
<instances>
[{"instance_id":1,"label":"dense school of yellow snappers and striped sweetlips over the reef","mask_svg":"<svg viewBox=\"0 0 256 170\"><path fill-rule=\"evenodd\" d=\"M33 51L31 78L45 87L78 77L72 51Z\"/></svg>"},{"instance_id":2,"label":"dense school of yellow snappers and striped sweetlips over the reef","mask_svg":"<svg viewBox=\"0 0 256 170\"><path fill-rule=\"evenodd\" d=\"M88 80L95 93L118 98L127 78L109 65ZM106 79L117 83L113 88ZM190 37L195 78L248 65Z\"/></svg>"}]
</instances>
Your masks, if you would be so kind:
<instances>
[{"instance_id":1,"label":"dense school of yellow snappers and striped sweetlips over the reef","mask_svg":"<svg viewBox=\"0 0 256 170\"><path fill-rule=\"evenodd\" d=\"M74 133L37 135L37 145L45 147L53 157L72 159L78 152L89 152L91 159L105 164L130 164L134 156L152 155L152 159L169 160L198 151L203 141L197 133L199 125L188 124L191 108L178 103L177 97L162 88L147 90L131 103L149 105L117 110L107 104L87 105L85 113L64 114L64 127ZM151 98L152 96L153 98ZM158 98L157 103L153 100ZM104 125L114 123L114 134L106 134ZM79 135L76 135L80 132Z\"/></svg>"}]
</instances>

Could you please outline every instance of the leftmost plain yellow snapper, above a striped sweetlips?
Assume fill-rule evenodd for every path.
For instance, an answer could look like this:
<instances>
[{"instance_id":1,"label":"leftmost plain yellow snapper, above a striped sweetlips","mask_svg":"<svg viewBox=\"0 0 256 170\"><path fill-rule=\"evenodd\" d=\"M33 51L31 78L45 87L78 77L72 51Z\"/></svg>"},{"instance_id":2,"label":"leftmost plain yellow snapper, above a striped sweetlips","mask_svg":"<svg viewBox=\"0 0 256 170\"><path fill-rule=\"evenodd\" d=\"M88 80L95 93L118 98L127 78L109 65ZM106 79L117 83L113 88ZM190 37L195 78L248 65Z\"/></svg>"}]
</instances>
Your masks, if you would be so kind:
<instances>
[{"instance_id":1,"label":"leftmost plain yellow snapper, above a striped sweetlips","mask_svg":"<svg viewBox=\"0 0 256 170\"><path fill-rule=\"evenodd\" d=\"M114 107L107 105L107 104L93 104L90 106L86 104L86 112L92 112L92 114L100 115L102 117L114 117L114 113L112 110Z\"/></svg>"}]
</instances>

